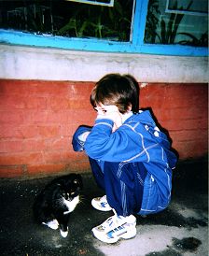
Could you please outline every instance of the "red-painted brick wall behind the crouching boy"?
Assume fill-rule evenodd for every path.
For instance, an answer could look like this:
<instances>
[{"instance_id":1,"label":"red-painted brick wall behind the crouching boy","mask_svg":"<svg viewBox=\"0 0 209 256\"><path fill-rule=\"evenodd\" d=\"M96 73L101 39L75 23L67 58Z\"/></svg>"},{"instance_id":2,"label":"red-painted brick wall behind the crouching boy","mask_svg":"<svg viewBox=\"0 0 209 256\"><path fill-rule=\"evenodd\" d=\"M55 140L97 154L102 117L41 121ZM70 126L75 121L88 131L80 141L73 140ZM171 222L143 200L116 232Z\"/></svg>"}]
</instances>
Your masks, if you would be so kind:
<instances>
[{"instance_id":1,"label":"red-painted brick wall behind the crouching boy","mask_svg":"<svg viewBox=\"0 0 209 256\"><path fill-rule=\"evenodd\" d=\"M91 82L0 80L0 177L89 171L85 153L74 152L79 124L92 125ZM206 84L147 84L141 107L152 107L169 131L181 160L208 149Z\"/></svg>"}]
</instances>

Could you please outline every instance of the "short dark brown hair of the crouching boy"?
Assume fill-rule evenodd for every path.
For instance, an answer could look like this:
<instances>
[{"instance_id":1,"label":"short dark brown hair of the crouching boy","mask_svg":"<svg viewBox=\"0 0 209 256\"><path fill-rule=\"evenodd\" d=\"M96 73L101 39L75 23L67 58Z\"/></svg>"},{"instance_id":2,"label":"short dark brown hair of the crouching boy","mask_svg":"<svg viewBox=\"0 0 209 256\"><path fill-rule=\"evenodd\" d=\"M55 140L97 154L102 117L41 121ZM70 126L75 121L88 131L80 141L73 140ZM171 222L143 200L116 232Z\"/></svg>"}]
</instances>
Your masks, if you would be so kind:
<instances>
[{"instance_id":1,"label":"short dark brown hair of the crouching boy","mask_svg":"<svg viewBox=\"0 0 209 256\"><path fill-rule=\"evenodd\" d=\"M132 107L132 112L139 110L139 86L130 75L108 74L101 78L91 92L91 105L96 107L115 105L124 114Z\"/></svg>"}]
</instances>

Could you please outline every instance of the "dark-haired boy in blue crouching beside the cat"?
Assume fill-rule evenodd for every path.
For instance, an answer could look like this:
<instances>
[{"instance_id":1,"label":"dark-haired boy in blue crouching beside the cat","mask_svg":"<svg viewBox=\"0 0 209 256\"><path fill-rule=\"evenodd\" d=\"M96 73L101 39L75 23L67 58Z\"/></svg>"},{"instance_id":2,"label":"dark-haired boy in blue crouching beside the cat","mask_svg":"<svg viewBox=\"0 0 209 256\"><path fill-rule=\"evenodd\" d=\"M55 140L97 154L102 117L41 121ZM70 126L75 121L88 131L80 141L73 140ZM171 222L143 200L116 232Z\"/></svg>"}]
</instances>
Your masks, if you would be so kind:
<instances>
[{"instance_id":1,"label":"dark-haired boy in blue crouching beside the cat","mask_svg":"<svg viewBox=\"0 0 209 256\"><path fill-rule=\"evenodd\" d=\"M176 157L150 112L138 110L139 87L131 76L104 76L91 92L91 105L97 111L95 124L77 128L73 147L86 151L93 176L105 192L91 205L114 212L92 233L115 243L136 235L133 214L157 213L169 205Z\"/></svg>"}]
</instances>

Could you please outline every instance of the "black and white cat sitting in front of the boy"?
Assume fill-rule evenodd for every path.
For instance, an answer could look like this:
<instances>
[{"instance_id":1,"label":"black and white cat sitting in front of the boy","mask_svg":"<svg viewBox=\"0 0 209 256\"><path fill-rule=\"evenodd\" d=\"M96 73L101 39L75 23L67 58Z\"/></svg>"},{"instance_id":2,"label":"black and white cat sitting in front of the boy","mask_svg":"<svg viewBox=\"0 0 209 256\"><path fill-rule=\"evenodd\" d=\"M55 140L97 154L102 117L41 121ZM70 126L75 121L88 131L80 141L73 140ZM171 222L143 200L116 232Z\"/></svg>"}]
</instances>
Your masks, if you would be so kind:
<instances>
[{"instance_id":1,"label":"black and white cat sitting in front of the boy","mask_svg":"<svg viewBox=\"0 0 209 256\"><path fill-rule=\"evenodd\" d=\"M82 188L82 178L77 174L53 179L35 198L35 220L54 230L60 227L61 235L66 237L69 213L79 203Z\"/></svg>"}]
</instances>

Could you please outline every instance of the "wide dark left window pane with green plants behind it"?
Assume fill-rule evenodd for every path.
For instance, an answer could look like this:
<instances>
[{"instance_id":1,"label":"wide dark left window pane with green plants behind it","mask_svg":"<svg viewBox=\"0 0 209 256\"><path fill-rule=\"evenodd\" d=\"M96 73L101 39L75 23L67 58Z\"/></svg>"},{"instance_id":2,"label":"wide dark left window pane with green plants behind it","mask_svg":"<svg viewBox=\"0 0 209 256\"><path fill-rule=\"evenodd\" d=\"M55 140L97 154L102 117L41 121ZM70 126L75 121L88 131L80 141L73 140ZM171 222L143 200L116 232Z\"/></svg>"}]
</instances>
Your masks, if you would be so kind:
<instances>
[{"instance_id":1,"label":"wide dark left window pane with green plants behind it","mask_svg":"<svg viewBox=\"0 0 209 256\"><path fill-rule=\"evenodd\" d=\"M106 7L65 0L0 1L0 28L130 41L133 2L115 0L114 7Z\"/></svg>"}]
</instances>

